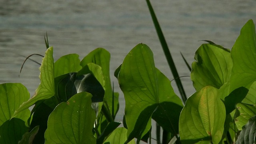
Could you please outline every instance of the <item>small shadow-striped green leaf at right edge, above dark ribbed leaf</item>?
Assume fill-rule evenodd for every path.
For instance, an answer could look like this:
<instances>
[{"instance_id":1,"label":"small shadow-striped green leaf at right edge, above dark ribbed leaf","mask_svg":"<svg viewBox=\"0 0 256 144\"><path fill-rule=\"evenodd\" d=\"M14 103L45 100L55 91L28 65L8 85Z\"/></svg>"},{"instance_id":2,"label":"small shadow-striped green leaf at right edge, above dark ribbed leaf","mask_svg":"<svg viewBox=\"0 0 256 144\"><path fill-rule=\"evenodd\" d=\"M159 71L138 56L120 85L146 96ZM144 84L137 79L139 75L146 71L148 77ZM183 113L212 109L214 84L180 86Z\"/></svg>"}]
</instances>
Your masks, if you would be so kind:
<instances>
[{"instance_id":1,"label":"small shadow-striped green leaf at right edge, above dark ribbed leaf","mask_svg":"<svg viewBox=\"0 0 256 144\"><path fill-rule=\"evenodd\" d=\"M242 130L242 127L248 122L250 118L256 115L256 105L238 103L236 104L235 123L238 130Z\"/></svg>"}]
</instances>

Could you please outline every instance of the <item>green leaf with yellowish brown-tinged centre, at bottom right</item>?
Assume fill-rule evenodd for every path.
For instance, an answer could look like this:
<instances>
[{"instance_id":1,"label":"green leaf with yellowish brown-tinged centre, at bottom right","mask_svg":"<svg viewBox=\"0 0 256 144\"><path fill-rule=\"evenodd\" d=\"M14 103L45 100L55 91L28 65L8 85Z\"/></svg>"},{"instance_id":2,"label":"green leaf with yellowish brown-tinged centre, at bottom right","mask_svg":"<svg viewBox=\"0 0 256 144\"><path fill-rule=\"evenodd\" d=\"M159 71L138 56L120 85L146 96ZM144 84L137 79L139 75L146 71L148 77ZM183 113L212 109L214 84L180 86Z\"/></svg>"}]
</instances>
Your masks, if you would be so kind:
<instances>
[{"instance_id":1,"label":"green leaf with yellowish brown-tinged centre, at bottom right","mask_svg":"<svg viewBox=\"0 0 256 144\"><path fill-rule=\"evenodd\" d=\"M222 139L225 118L225 106L218 98L218 89L212 86L202 88L188 98L180 114L181 142L218 144Z\"/></svg>"}]
</instances>

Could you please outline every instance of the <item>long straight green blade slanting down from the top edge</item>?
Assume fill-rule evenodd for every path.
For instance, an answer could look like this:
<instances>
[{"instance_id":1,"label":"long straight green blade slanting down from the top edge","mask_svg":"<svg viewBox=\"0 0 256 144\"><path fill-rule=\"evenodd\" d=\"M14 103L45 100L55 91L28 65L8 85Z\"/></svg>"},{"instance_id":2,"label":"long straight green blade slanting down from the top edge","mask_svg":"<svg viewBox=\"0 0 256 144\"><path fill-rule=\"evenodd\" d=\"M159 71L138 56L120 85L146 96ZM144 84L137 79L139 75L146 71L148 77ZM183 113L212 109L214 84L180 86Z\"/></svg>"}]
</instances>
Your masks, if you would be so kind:
<instances>
[{"instance_id":1,"label":"long straight green blade slanting down from the top edge","mask_svg":"<svg viewBox=\"0 0 256 144\"><path fill-rule=\"evenodd\" d=\"M160 43L161 43L161 45L162 45L162 48L163 48L163 50L164 50L165 57L166 57L166 59L167 59L167 62L168 62L168 64L169 64L169 67L170 67L170 69L171 69L171 71L172 71L172 74L173 74L173 76L174 76L174 78L175 78L175 82L176 82L176 84L177 84L177 86L178 86L178 90L179 90L179 92L180 92L182 101L185 103L186 100L187 100L187 97L186 97L185 91L184 91L184 89L183 89L181 80L180 80L180 78L179 78L179 74L178 74L178 72L177 72L177 69L176 69L176 67L175 67L174 61L173 61L173 59L172 59L170 50L169 50L169 48L168 48L168 46L167 46L167 43L166 43L166 40L165 40L165 38L164 38L164 34L163 34L163 32L162 32L162 30L161 30L161 27L160 27L160 25L159 25L159 23L158 23L158 20L157 20L157 18L156 18L156 14L155 14L155 12L154 12L154 10L153 10L151 4L150 4L150 1L149 1L149 0L146 0L146 2L147 2L147 4L148 4L148 9L149 9L149 11L150 11L152 20L153 20L153 22L154 22L154 26L155 26L155 28L156 28L156 32L157 32L157 34L158 34L158 38L159 38ZM176 79L176 78L177 78L177 79Z\"/></svg>"}]
</instances>

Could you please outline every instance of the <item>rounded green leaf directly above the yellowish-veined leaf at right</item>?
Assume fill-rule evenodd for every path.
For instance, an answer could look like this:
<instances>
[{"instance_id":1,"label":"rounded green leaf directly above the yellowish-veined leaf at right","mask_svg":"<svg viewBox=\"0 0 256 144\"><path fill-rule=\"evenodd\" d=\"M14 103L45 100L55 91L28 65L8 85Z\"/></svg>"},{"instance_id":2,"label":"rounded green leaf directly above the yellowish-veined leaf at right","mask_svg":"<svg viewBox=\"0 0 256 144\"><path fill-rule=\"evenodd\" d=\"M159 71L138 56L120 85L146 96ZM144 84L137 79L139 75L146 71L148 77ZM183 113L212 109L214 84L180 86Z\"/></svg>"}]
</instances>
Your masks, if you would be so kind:
<instances>
[{"instance_id":1,"label":"rounded green leaf directly above the yellowish-veined leaf at right","mask_svg":"<svg viewBox=\"0 0 256 144\"><path fill-rule=\"evenodd\" d=\"M205 86L220 88L229 81L232 69L230 52L212 44L202 44L194 59L191 80L196 91Z\"/></svg>"}]
</instances>

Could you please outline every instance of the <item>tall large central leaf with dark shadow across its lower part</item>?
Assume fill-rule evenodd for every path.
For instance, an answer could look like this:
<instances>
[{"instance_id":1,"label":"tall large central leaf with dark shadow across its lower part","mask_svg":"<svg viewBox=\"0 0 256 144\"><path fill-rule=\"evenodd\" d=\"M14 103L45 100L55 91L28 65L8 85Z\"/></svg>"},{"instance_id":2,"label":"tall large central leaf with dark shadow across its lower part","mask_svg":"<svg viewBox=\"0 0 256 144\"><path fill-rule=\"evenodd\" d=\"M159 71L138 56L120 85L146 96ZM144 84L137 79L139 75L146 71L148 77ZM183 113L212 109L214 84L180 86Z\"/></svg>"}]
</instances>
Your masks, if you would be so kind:
<instances>
[{"instance_id":1,"label":"tall large central leaf with dark shadow across its lower part","mask_svg":"<svg viewBox=\"0 0 256 144\"><path fill-rule=\"evenodd\" d=\"M140 140L150 130L154 111L157 112L153 117L160 125L178 133L178 126L174 129L171 125L178 125L182 102L174 94L170 80L155 68L153 53L148 46L138 44L129 52L124 58L118 81L126 101L128 141L134 137ZM161 117L166 120L168 128Z\"/></svg>"}]
</instances>

